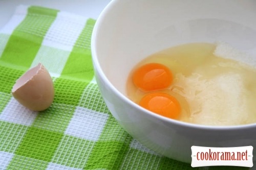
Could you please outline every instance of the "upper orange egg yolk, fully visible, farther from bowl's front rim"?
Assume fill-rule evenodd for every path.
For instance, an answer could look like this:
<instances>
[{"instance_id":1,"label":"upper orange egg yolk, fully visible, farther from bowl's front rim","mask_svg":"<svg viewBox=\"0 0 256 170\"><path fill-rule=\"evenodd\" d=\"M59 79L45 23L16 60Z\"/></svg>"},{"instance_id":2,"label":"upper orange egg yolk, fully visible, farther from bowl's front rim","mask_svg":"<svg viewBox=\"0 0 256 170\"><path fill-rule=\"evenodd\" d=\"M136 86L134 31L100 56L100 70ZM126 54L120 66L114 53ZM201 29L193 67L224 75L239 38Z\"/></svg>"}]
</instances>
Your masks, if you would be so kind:
<instances>
[{"instance_id":1,"label":"upper orange egg yolk, fully visible, farther from bowl's front rim","mask_svg":"<svg viewBox=\"0 0 256 170\"><path fill-rule=\"evenodd\" d=\"M145 64L134 71L133 83L143 91L168 87L173 81L172 72L163 64Z\"/></svg>"}]
</instances>

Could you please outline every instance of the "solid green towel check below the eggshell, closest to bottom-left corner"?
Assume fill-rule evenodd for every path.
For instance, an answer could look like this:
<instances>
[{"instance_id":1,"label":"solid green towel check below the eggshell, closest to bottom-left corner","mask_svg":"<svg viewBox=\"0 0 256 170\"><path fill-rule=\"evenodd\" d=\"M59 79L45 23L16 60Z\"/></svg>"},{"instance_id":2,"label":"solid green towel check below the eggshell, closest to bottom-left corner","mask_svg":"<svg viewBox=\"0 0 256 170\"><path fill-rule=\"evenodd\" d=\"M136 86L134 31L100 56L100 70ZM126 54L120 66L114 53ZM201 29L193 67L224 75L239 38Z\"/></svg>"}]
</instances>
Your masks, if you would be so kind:
<instances>
[{"instance_id":1,"label":"solid green towel check below the eggshell, closest to bottom-left corner","mask_svg":"<svg viewBox=\"0 0 256 170\"><path fill-rule=\"evenodd\" d=\"M50 162L62 133L30 127L15 154Z\"/></svg>"}]
</instances>

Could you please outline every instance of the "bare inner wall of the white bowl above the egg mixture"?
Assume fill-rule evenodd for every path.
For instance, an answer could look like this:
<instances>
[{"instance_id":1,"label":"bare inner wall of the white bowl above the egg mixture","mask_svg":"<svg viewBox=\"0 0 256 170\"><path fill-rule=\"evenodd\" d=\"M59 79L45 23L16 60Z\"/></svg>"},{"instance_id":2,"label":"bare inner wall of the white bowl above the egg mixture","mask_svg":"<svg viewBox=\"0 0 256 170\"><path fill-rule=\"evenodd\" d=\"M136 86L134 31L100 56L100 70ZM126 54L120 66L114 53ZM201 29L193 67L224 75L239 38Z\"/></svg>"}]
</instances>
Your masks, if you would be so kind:
<instances>
[{"instance_id":1,"label":"bare inner wall of the white bowl above the egg mixture","mask_svg":"<svg viewBox=\"0 0 256 170\"><path fill-rule=\"evenodd\" d=\"M97 61L125 95L131 69L164 48L189 42L224 41L256 60L256 2L113 1L95 27Z\"/></svg>"}]
</instances>

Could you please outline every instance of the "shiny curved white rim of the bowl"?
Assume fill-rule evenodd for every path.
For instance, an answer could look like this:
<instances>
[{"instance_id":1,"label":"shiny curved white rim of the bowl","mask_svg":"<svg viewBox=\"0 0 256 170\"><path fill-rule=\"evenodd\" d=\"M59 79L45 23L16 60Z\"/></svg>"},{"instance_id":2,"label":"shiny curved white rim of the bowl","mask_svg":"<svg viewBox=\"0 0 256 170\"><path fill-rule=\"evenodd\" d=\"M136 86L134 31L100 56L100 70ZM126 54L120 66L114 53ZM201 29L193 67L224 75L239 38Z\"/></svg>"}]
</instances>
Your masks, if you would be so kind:
<instances>
[{"instance_id":1,"label":"shiny curved white rim of the bowl","mask_svg":"<svg viewBox=\"0 0 256 170\"><path fill-rule=\"evenodd\" d=\"M193 123L187 123L187 122L182 122L180 120L175 120L175 119L171 119L162 115L159 115L157 113L154 113L152 111L149 111L139 105L137 105L136 103L134 103L133 101L131 101L129 98L127 98L127 96L125 96L123 93L121 93L119 90L117 90L117 88L111 83L111 81L106 77L106 75L104 74L99 60L98 60L98 54L97 54L97 34L98 34L98 30L100 29L101 23L104 20L104 18L108 15L108 12L111 11L112 7L119 2L119 0L112 0L100 13L98 19L95 22L94 28L93 28L93 32L92 32L92 37L91 37L91 53L92 53L92 61L93 61L93 65L94 65L94 69L98 71L99 76L101 77L101 79L105 82L105 86L108 86L112 92L118 96L118 98L120 98L123 102L129 104L132 107L135 107L138 110L141 110L143 113L150 115L151 117L154 117L156 119L159 119L163 122L166 122L168 124L173 124L175 126L179 126L179 127L186 127L186 128L193 128L193 129L200 129L200 130L208 130L208 131L234 131L234 130L243 130L243 129L252 129L252 128L256 128L256 123L252 123L252 124L244 124L244 125L231 125L231 126L210 126L210 125L200 125L200 124L193 124Z\"/></svg>"}]
</instances>

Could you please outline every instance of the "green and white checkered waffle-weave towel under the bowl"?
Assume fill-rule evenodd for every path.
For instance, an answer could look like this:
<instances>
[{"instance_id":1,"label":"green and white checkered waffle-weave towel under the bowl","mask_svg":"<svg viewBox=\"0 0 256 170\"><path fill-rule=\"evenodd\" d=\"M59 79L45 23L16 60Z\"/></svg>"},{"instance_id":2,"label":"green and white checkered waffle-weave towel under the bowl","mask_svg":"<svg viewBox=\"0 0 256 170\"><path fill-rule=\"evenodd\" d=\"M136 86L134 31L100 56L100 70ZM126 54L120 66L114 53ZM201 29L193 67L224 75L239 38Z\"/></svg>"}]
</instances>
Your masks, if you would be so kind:
<instances>
[{"instance_id":1,"label":"green and white checkered waffle-weave towel under the bowl","mask_svg":"<svg viewBox=\"0 0 256 170\"><path fill-rule=\"evenodd\" d=\"M160 156L119 126L94 80L94 23L63 11L19 6L0 31L0 169L215 169ZM39 62L52 76L55 97L47 110L33 112L11 89Z\"/></svg>"}]
</instances>

